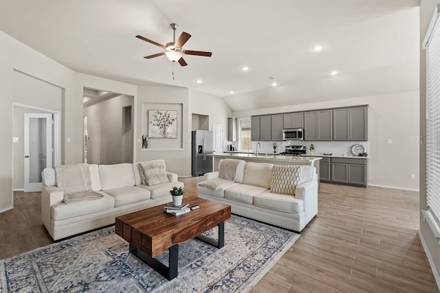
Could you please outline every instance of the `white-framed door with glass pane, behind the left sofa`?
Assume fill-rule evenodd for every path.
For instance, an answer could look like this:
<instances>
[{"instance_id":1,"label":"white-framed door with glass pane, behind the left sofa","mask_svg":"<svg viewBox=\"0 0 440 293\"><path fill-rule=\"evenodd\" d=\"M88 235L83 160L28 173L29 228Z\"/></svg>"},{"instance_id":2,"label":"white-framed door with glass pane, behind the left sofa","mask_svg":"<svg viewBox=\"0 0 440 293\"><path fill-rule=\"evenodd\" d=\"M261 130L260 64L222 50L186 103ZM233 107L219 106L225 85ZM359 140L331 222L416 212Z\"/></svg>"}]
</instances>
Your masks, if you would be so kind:
<instances>
[{"instance_id":1,"label":"white-framed door with glass pane, behind the left sofa","mask_svg":"<svg viewBox=\"0 0 440 293\"><path fill-rule=\"evenodd\" d=\"M52 114L25 113L25 192L41 191L41 172L52 167Z\"/></svg>"}]
</instances>

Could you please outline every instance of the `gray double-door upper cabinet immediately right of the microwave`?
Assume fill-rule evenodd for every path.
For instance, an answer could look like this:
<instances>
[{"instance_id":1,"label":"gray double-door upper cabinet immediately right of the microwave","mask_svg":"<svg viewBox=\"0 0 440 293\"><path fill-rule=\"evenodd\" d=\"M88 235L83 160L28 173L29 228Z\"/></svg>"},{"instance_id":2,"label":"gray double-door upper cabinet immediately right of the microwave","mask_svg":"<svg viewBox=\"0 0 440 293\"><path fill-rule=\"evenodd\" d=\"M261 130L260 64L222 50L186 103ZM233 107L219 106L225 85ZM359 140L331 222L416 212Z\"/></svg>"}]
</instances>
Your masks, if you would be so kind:
<instances>
[{"instance_id":1,"label":"gray double-door upper cabinet immediately right of the microwave","mask_svg":"<svg viewBox=\"0 0 440 293\"><path fill-rule=\"evenodd\" d=\"M304 113L304 132L306 141L332 140L333 111L318 110Z\"/></svg>"}]
</instances>

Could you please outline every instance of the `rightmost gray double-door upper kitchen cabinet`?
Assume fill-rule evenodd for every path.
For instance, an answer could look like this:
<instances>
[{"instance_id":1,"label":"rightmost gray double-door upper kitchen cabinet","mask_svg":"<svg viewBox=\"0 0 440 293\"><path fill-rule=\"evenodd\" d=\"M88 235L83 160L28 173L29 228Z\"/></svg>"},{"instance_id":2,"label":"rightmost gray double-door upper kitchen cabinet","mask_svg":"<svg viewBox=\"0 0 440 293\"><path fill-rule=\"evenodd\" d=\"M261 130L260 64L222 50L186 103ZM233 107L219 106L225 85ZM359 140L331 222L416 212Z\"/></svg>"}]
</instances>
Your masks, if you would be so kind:
<instances>
[{"instance_id":1,"label":"rightmost gray double-door upper kitchen cabinet","mask_svg":"<svg viewBox=\"0 0 440 293\"><path fill-rule=\"evenodd\" d=\"M333 141L367 141L367 106L333 109Z\"/></svg>"}]
</instances>

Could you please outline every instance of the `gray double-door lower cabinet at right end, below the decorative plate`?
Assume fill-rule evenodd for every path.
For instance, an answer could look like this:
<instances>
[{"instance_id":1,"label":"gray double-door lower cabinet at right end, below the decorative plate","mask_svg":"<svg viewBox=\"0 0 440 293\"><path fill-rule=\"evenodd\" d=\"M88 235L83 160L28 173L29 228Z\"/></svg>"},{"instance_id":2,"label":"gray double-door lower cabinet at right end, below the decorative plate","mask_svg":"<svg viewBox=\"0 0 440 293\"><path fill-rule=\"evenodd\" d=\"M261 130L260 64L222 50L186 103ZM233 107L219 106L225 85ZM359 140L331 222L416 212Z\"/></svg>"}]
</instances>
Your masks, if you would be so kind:
<instances>
[{"instance_id":1,"label":"gray double-door lower cabinet at right end, below the decorative plate","mask_svg":"<svg viewBox=\"0 0 440 293\"><path fill-rule=\"evenodd\" d=\"M366 159L331 158L331 182L366 186Z\"/></svg>"}]
</instances>

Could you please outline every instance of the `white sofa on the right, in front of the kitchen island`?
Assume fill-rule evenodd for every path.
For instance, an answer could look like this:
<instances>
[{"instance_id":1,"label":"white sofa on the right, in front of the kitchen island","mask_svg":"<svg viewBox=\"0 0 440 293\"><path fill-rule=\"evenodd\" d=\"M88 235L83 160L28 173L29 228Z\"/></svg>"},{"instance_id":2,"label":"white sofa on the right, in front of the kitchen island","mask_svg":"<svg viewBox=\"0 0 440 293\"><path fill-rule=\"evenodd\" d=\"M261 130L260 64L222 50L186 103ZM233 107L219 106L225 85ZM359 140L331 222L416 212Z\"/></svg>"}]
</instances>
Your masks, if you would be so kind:
<instances>
[{"instance_id":1,"label":"white sofa on the right, in front of the kitchen island","mask_svg":"<svg viewBox=\"0 0 440 293\"><path fill-rule=\"evenodd\" d=\"M225 178L228 177L224 176L228 172L223 170L225 160L234 159L220 160L219 171L204 174L205 180L197 184L200 198L230 204L232 213L297 232L318 213L318 176L314 166L288 167L235 160L234 176ZM279 193L278 179L272 176L274 166L277 174L286 168L298 170L299 182L294 185L294 191L289 190L290 194Z\"/></svg>"}]
</instances>

